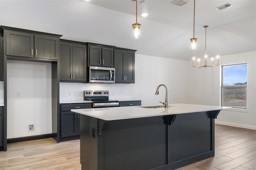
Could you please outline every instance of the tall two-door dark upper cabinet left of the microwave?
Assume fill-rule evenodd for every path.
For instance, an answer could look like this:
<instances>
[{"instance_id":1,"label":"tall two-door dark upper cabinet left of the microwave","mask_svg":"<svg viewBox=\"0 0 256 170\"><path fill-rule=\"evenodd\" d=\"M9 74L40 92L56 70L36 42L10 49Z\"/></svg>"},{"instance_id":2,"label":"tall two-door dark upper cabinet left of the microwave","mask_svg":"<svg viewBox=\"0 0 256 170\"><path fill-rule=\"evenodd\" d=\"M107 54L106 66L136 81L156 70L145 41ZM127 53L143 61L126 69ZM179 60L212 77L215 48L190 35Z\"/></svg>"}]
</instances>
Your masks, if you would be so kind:
<instances>
[{"instance_id":1,"label":"tall two-door dark upper cabinet left of the microwave","mask_svg":"<svg viewBox=\"0 0 256 170\"><path fill-rule=\"evenodd\" d=\"M60 81L86 82L86 45L60 41Z\"/></svg>"}]
</instances>

